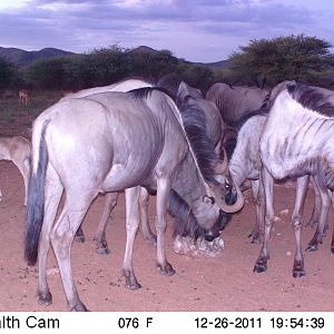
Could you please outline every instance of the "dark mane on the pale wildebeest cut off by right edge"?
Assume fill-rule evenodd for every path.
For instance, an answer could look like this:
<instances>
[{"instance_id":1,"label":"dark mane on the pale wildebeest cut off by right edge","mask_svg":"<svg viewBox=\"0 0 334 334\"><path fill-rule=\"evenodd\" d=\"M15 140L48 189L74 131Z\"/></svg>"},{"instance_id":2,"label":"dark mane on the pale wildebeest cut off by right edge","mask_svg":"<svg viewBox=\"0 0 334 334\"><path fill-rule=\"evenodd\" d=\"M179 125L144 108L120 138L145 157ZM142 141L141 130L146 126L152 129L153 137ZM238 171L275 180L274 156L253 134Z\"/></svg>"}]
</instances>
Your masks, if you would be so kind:
<instances>
[{"instance_id":1,"label":"dark mane on the pale wildebeest cut off by right edge","mask_svg":"<svg viewBox=\"0 0 334 334\"><path fill-rule=\"evenodd\" d=\"M333 95L326 95L321 88L305 84L287 86L287 91L304 108L324 116L334 117L334 104L330 101L330 97L333 98L334 92Z\"/></svg>"}]
</instances>

